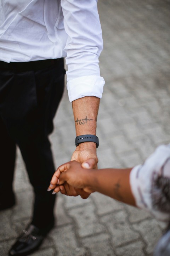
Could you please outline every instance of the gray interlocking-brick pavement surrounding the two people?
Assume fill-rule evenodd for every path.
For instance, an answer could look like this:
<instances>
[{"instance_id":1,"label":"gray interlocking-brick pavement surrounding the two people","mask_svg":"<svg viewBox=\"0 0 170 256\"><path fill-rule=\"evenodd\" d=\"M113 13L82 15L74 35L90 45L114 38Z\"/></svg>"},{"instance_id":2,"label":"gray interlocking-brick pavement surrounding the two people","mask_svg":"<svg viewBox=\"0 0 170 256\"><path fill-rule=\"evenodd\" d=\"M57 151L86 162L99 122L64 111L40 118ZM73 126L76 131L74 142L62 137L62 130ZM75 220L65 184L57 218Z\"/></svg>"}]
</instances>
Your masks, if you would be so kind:
<instances>
[{"instance_id":1,"label":"gray interlocking-brick pavement surrounding the two people","mask_svg":"<svg viewBox=\"0 0 170 256\"><path fill-rule=\"evenodd\" d=\"M97 122L98 167L131 167L170 142L170 1L99 0L98 10L106 81ZM56 167L69 161L75 130L66 90L50 139ZM33 192L19 150L14 186L17 205L0 213L1 256L31 216ZM55 213L56 227L33 256L150 256L165 227L98 193L86 200L60 194Z\"/></svg>"}]
</instances>

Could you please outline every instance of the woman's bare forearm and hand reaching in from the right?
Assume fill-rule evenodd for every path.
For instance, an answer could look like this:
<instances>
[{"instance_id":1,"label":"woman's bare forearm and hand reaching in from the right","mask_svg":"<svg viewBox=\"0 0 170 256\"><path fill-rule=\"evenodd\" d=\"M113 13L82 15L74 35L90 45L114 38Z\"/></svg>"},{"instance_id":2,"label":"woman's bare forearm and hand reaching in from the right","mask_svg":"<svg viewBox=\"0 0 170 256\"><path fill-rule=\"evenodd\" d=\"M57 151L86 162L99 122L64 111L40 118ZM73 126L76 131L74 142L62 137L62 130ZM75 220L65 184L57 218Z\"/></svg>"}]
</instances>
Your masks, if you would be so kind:
<instances>
[{"instance_id":1,"label":"woman's bare forearm and hand reaching in from the right","mask_svg":"<svg viewBox=\"0 0 170 256\"><path fill-rule=\"evenodd\" d=\"M52 177L49 190L59 192L58 185L69 185L83 189L85 192L100 192L118 201L135 206L135 199L130 188L130 171L128 169L84 169L76 161L70 161L58 167ZM60 178L60 180L59 180Z\"/></svg>"}]
</instances>

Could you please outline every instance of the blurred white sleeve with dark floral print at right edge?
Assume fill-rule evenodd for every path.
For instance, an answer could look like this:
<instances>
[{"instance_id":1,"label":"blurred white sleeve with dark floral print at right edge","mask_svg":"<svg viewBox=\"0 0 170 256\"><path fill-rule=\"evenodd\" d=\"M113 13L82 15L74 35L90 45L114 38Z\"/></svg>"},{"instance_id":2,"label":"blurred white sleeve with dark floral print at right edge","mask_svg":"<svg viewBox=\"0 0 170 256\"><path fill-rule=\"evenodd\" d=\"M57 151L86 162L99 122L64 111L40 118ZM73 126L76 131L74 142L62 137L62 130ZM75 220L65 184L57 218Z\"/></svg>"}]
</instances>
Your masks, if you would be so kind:
<instances>
[{"instance_id":1,"label":"blurred white sleeve with dark floral print at right edge","mask_svg":"<svg viewBox=\"0 0 170 256\"><path fill-rule=\"evenodd\" d=\"M136 205L155 218L170 220L170 144L159 146L142 165L130 173Z\"/></svg>"}]
</instances>

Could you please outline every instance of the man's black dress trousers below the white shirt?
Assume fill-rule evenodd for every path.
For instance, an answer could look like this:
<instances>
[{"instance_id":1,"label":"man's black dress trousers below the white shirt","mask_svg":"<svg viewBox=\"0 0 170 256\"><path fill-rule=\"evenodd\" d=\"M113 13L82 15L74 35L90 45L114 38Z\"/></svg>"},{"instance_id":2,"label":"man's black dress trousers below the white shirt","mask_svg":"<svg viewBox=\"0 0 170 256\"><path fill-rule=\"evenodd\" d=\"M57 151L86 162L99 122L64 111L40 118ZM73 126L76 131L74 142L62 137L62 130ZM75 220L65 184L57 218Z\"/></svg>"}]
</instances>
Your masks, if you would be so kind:
<instances>
[{"instance_id":1,"label":"man's black dress trousers below the white shirt","mask_svg":"<svg viewBox=\"0 0 170 256\"><path fill-rule=\"evenodd\" d=\"M44 228L53 220L55 203L47 192L55 171L48 135L62 98L65 70L63 58L47 67L39 63L43 65L28 71L15 64L0 68L0 201L10 200L13 193L17 144L35 192L32 223Z\"/></svg>"}]
</instances>

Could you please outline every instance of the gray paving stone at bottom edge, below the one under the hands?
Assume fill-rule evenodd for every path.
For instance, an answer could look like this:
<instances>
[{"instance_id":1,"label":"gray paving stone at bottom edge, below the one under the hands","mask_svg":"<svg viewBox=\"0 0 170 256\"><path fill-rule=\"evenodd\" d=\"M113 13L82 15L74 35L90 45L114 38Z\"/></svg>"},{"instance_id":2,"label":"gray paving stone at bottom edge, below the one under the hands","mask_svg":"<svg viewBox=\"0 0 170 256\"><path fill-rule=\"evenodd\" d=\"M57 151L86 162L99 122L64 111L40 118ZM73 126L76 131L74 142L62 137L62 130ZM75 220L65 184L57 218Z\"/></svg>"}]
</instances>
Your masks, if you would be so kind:
<instances>
[{"instance_id":1,"label":"gray paving stone at bottom edge, below the one under the hands","mask_svg":"<svg viewBox=\"0 0 170 256\"><path fill-rule=\"evenodd\" d=\"M108 234L99 234L83 238L82 244L90 251L92 256L115 256Z\"/></svg>"}]
</instances>

